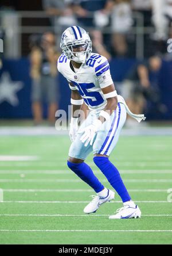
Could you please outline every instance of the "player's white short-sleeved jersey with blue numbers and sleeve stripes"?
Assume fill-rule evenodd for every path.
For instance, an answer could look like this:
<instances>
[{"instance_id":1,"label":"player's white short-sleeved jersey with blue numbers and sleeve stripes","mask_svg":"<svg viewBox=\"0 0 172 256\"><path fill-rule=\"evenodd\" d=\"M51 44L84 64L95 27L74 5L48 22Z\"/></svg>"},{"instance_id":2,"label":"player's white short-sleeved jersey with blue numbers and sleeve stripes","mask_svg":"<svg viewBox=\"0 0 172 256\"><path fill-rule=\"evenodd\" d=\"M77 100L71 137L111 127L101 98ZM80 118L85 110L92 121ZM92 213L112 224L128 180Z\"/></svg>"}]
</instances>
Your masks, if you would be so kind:
<instances>
[{"instance_id":1,"label":"player's white short-sleeved jersey with blue numbers and sleeve stripes","mask_svg":"<svg viewBox=\"0 0 172 256\"><path fill-rule=\"evenodd\" d=\"M110 64L99 54L92 53L85 64L74 72L71 60L62 54L57 61L58 71L72 83L71 90L78 90L85 104L91 110L101 110L107 104L102 88L112 85Z\"/></svg>"}]
</instances>

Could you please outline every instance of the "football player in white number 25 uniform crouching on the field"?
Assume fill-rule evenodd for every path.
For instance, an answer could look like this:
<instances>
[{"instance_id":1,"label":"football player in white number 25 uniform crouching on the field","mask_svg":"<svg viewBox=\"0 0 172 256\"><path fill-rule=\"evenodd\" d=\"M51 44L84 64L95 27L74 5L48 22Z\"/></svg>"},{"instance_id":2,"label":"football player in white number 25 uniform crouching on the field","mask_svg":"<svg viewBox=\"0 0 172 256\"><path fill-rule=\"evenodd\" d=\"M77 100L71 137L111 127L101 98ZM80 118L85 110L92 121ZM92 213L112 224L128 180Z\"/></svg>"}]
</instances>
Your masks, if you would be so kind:
<instances>
[{"instance_id":1,"label":"football player in white number 25 uniform crouching on the field","mask_svg":"<svg viewBox=\"0 0 172 256\"><path fill-rule=\"evenodd\" d=\"M122 198L123 207L110 219L140 217L124 186L118 169L109 156L118 142L120 131L126 121L126 113L139 122L145 120L144 114L133 114L124 99L116 93L110 74L108 60L92 53L92 42L88 33L80 26L71 26L62 33L60 47L63 54L58 58L58 71L67 79L71 88L73 106L69 136L68 167L96 192L93 200L84 208L85 213L96 212L101 204L114 199L114 191L105 188L97 179L91 167L85 163L93 151L93 162L105 175L108 182ZM85 102L90 112L78 129L75 111Z\"/></svg>"}]
</instances>

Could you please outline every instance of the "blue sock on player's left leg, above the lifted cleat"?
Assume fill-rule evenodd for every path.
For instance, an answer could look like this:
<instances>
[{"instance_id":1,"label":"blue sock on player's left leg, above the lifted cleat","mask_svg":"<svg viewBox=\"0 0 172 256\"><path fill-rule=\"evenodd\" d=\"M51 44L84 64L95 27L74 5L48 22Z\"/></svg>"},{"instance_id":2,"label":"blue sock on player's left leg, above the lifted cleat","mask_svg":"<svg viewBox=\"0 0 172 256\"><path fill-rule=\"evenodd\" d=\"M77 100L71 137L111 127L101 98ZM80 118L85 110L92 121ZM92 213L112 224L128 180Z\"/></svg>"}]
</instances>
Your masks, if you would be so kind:
<instances>
[{"instance_id":1,"label":"blue sock on player's left leg, above the lifted cleat","mask_svg":"<svg viewBox=\"0 0 172 256\"><path fill-rule=\"evenodd\" d=\"M72 163L68 161L68 167L78 175L83 181L85 181L91 188L95 190L96 193L99 193L104 189L104 186L100 183L99 179L93 174L91 168L87 163Z\"/></svg>"}]
</instances>

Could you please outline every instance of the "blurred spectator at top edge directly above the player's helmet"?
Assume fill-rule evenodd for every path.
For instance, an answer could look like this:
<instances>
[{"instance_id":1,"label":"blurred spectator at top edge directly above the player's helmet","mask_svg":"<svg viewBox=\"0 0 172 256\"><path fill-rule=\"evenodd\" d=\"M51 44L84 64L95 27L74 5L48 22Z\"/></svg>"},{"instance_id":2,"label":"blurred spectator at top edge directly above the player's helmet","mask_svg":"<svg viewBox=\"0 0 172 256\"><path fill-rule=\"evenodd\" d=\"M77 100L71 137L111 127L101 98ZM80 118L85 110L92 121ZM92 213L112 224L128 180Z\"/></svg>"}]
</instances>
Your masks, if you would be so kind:
<instances>
[{"instance_id":1,"label":"blurred spectator at top edge directly above the player's helmet","mask_svg":"<svg viewBox=\"0 0 172 256\"><path fill-rule=\"evenodd\" d=\"M68 26L76 25L71 9L72 0L42 0L42 7L52 18L54 32L61 33Z\"/></svg>"}]
</instances>

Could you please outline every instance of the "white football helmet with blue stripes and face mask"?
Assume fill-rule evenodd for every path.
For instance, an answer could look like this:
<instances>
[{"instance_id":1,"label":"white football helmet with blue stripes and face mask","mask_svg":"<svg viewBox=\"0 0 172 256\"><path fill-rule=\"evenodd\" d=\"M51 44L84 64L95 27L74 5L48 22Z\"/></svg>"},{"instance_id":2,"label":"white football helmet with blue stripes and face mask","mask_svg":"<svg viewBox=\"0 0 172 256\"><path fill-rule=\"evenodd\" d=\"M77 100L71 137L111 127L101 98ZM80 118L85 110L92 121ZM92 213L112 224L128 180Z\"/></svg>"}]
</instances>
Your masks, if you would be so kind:
<instances>
[{"instance_id":1,"label":"white football helmet with blue stripes and face mask","mask_svg":"<svg viewBox=\"0 0 172 256\"><path fill-rule=\"evenodd\" d=\"M60 47L68 59L77 63L85 63L92 51L92 42L80 26L70 26L61 36Z\"/></svg>"}]
</instances>

